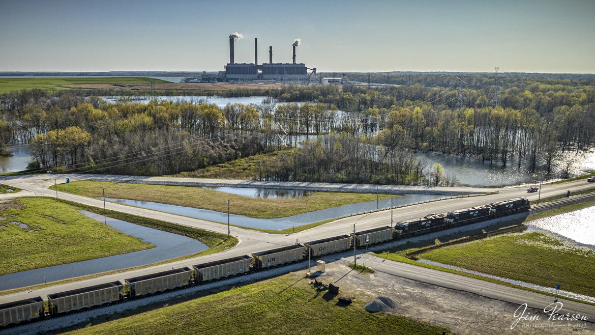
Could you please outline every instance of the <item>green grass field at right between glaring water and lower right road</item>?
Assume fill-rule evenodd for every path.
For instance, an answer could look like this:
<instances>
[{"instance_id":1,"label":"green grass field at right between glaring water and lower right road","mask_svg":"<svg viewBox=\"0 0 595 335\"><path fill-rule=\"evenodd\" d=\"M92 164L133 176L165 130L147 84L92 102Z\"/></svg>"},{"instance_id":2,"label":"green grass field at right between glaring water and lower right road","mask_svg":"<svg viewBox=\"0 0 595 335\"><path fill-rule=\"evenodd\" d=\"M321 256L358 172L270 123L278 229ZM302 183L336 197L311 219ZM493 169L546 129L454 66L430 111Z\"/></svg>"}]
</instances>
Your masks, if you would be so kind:
<instances>
[{"instance_id":1,"label":"green grass field at right between glaring water and lower right road","mask_svg":"<svg viewBox=\"0 0 595 335\"><path fill-rule=\"evenodd\" d=\"M541 232L501 235L422 253L419 258L595 296L595 252Z\"/></svg>"}]
</instances>

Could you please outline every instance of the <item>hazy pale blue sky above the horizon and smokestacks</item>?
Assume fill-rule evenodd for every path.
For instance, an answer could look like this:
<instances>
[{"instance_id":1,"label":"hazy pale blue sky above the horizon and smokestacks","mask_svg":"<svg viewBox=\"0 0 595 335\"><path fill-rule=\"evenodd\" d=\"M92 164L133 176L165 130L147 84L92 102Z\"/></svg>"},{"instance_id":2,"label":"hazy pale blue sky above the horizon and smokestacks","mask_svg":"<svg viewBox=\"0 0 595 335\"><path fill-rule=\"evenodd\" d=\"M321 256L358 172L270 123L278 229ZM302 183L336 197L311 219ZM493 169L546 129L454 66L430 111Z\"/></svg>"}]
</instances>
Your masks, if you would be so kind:
<instances>
[{"instance_id":1,"label":"hazy pale blue sky above the horizon and smokestacks","mask_svg":"<svg viewBox=\"0 0 595 335\"><path fill-rule=\"evenodd\" d=\"M223 70L595 73L595 0L0 0L0 71Z\"/></svg>"}]
</instances>

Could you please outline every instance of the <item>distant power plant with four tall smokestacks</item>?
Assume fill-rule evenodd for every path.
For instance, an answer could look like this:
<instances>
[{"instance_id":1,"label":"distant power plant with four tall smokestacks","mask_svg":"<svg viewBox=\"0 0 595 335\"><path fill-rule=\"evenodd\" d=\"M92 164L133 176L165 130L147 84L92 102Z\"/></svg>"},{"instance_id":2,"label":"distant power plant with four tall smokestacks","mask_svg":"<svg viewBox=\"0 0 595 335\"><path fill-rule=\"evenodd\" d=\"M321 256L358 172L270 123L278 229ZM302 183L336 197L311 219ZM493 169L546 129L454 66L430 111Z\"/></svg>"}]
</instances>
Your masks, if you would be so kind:
<instances>
[{"instance_id":1,"label":"distant power plant with four tall smokestacks","mask_svg":"<svg viewBox=\"0 0 595 335\"><path fill-rule=\"evenodd\" d=\"M296 47L301 40L296 39L293 44L292 63L273 63L273 46L268 47L268 63L258 64L258 39L254 38L254 63L236 63L234 55L234 44L243 36L240 33L229 35L229 63L225 70L217 74L203 73L200 78L186 78L186 82L247 82L247 81L270 81L270 82L307 82L314 79L316 68L306 67L304 63L296 63ZM308 73L308 70L311 72ZM189 80L190 79L190 80Z\"/></svg>"}]
</instances>

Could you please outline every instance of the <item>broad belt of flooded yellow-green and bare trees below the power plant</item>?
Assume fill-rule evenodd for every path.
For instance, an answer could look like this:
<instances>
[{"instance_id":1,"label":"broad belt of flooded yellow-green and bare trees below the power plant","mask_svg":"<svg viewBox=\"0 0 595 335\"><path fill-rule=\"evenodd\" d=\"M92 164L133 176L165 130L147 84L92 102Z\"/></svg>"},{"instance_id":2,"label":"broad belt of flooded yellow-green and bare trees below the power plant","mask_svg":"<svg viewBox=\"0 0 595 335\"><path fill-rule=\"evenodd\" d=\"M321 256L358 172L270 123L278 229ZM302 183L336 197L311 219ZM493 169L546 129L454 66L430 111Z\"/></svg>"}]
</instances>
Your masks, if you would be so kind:
<instances>
[{"instance_id":1,"label":"broad belt of flooded yellow-green and bare trees below the power plant","mask_svg":"<svg viewBox=\"0 0 595 335\"><path fill-rule=\"evenodd\" d=\"M10 92L0 95L0 141L30 142L33 170L161 175L307 138L298 150L262 162L259 176L436 185L455 180L415 151L549 173L560 156L595 144L595 80L477 77L465 78L458 91L464 84L454 76L425 77L430 86L419 83L423 77L409 86L284 86L267 90L271 98L262 104L223 108L105 103L82 91Z\"/></svg>"}]
</instances>

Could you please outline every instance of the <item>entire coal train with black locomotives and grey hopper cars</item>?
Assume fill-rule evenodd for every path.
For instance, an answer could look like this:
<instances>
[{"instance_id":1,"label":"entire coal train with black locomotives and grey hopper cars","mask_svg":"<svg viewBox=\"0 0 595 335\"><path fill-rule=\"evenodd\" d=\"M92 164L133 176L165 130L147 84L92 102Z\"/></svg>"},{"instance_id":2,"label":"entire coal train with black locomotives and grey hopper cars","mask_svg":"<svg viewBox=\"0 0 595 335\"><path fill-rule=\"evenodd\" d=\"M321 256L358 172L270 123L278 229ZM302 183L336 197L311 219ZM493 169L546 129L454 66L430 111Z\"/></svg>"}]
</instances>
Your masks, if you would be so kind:
<instances>
[{"instance_id":1,"label":"entire coal train with black locomotives and grey hopper cars","mask_svg":"<svg viewBox=\"0 0 595 335\"><path fill-rule=\"evenodd\" d=\"M446 214L428 215L424 218L398 222L395 227L380 227L355 232L349 235L324 238L308 243L294 244L272 250L215 260L188 267L171 269L154 274L128 278L124 283L114 281L82 289L48 294L45 306L42 297L19 300L0 305L0 327L23 321L38 320L52 315L93 308L109 303L134 299L162 291L190 285L199 285L220 278L262 271L273 266L299 262L310 257L343 252L354 247L382 243L395 238L427 234L431 231L449 229L474 222L486 221L500 216L529 210L527 198L513 198L506 201L485 204L468 209L454 210Z\"/></svg>"}]
</instances>

